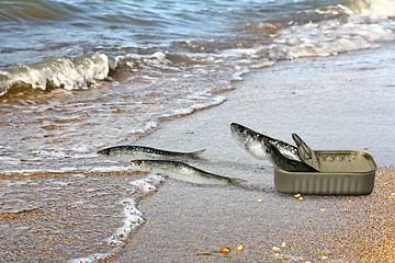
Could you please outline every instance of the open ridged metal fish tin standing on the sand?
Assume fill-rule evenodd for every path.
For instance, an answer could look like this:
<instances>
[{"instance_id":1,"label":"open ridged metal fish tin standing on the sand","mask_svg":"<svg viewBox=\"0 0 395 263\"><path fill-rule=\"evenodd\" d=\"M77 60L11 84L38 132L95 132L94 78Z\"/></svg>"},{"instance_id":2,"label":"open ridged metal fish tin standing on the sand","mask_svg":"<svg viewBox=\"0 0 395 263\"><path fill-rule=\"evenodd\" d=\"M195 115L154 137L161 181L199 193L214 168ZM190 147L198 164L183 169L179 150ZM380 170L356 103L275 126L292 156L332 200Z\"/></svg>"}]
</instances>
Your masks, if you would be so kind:
<instances>
[{"instance_id":1,"label":"open ridged metal fish tin standing on the sand","mask_svg":"<svg viewBox=\"0 0 395 263\"><path fill-rule=\"evenodd\" d=\"M324 162L328 162L327 165L334 163L334 172L287 172L274 168L275 190L289 194L318 195L372 193L376 164L370 155L360 151L317 151L317 153Z\"/></svg>"}]
</instances>

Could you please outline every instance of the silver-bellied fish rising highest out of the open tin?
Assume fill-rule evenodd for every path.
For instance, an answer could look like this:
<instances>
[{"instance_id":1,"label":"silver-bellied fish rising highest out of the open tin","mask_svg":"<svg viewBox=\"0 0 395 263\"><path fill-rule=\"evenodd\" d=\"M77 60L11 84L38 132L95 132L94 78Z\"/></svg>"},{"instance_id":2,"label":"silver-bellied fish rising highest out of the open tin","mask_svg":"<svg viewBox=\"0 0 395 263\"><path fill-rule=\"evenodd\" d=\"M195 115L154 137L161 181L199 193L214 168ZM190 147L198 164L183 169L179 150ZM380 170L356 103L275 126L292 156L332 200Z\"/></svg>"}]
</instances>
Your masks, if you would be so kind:
<instances>
[{"instance_id":1,"label":"silver-bellied fish rising highest out of the open tin","mask_svg":"<svg viewBox=\"0 0 395 263\"><path fill-rule=\"evenodd\" d=\"M293 145L259 134L250 128L247 128L246 126L236 123L230 124L230 130L236 142L255 158L260 160L270 159L264 147L264 140L268 140L284 157L291 160L301 161L297 148Z\"/></svg>"}]
</instances>

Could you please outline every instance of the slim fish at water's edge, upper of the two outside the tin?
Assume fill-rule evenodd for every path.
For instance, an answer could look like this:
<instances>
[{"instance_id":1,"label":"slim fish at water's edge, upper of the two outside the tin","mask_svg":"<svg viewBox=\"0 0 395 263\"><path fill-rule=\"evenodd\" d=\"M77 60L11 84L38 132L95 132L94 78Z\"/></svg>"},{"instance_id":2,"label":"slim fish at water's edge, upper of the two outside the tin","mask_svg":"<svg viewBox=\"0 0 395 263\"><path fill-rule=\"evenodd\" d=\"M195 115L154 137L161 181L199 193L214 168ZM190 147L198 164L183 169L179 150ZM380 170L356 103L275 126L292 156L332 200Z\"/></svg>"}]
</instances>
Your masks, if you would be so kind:
<instances>
[{"instance_id":1,"label":"slim fish at water's edge, upper of the two outside the tin","mask_svg":"<svg viewBox=\"0 0 395 263\"><path fill-rule=\"evenodd\" d=\"M177 152L155 149L145 146L115 146L98 151L98 155L109 157L114 160L129 162L136 159L155 159L155 160L188 160L201 159L201 155L205 151Z\"/></svg>"}]
</instances>

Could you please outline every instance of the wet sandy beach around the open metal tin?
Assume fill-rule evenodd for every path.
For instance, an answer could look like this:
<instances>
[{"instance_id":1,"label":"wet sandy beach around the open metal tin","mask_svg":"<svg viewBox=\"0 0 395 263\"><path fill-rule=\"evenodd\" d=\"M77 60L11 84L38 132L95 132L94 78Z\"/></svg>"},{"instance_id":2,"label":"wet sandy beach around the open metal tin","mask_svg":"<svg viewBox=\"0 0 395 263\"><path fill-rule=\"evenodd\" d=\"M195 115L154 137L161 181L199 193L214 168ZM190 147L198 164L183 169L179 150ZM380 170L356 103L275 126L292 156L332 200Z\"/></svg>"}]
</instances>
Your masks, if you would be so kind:
<instances>
[{"instance_id":1,"label":"wet sandy beach around the open metal tin","mask_svg":"<svg viewBox=\"0 0 395 263\"><path fill-rule=\"evenodd\" d=\"M140 202L147 222L114 262L394 262L394 50L282 61L252 72L224 104L139 139L170 150L205 148L193 165L248 186L168 179ZM303 201L279 193L270 163L233 140L233 122L290 142L296 133L314 149L368 148L379 167L374 191ZM230 252L217 252L224 247Z\"/></svg>"}]
</instances>

